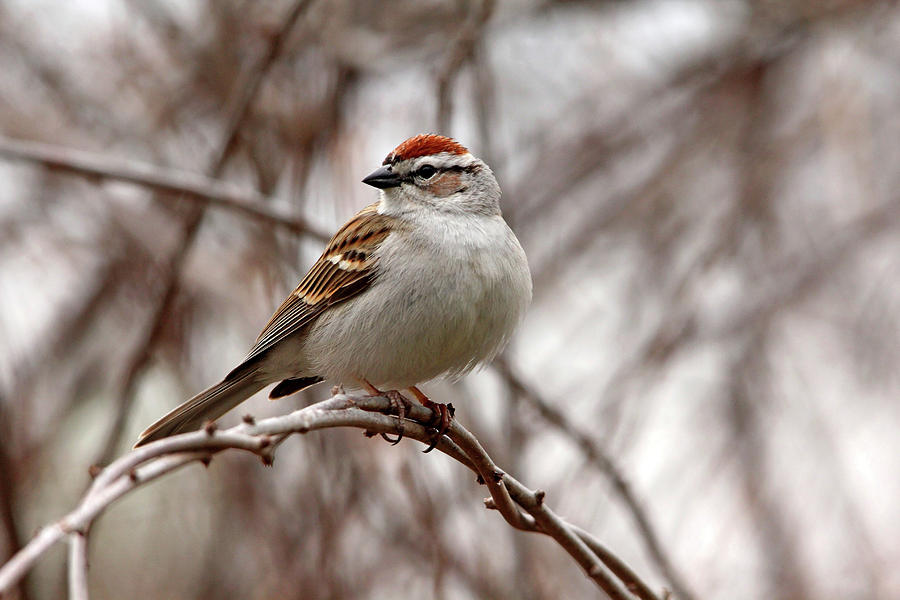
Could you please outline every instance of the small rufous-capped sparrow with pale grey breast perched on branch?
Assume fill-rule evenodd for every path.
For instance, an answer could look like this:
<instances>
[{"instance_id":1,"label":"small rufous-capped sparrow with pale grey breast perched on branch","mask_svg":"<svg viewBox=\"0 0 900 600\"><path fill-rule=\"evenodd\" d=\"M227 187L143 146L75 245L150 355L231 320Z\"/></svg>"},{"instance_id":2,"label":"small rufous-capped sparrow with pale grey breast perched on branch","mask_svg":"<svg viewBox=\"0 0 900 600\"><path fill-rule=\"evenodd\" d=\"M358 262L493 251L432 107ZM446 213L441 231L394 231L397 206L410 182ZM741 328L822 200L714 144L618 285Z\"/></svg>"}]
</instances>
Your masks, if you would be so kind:
<instances>
[{"instance_id":1,"label":"small rufous-capped sparrow with pale grey breast perched on branch","mask_svg":"<svg viewBox=\"0 0 900 600\"><path fill-rule=\"evenodd\" d=\"M416 386L503 349L531 302L528 261L494 173L450 137L405 140L362 182L378 201L338 229L246 358L135 447L199 429L272 383L276 399L324 380L392 402L408 390L444 433L452 412Z\"/></svg>"}]
</instances>

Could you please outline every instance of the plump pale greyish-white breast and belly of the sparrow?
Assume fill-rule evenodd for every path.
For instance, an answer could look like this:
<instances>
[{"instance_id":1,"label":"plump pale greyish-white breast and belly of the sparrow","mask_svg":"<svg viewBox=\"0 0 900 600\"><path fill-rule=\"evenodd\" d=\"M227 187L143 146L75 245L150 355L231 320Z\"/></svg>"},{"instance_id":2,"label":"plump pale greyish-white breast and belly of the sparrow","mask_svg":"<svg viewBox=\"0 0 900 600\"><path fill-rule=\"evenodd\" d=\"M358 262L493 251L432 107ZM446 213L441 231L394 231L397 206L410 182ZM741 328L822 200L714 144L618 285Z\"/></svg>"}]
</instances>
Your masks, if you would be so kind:
<instances>
[{"instance_id":1,"label":"plump pale greyish-white breast and belly of the sparrow","mask_svg":"<svg viewBox=\"0 0 900 600\"><path fill-rule=\"evenodd\" d=\"M459 375L491 359L521 321L531 276L502 217L454 215L410 229L385 240L370 289L310 328L303 354L315 374L383 389Z\"/></svg>"}]
</instances>

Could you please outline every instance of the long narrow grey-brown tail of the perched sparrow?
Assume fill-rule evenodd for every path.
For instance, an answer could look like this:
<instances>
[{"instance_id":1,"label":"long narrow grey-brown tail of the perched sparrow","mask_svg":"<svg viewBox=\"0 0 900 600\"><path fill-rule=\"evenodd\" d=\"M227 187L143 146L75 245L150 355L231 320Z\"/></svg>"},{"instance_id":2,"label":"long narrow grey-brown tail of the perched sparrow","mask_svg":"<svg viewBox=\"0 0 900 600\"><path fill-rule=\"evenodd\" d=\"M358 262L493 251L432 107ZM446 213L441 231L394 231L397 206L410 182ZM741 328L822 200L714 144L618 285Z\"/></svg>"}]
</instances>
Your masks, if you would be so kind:
<instances>
[{"instance_id":1,"label":"long narrow grey-brown tail of the perched sparrow","mask_svg":"<svg viewBox=\"0 0 900 600\"><path fill-rule=\"evenodd\" d=\"M256 369L235 369L223 381L172 409L141 433L135 448L176 433L199 429L261 390L266 382Z\"/></svg>"}]
</instances>

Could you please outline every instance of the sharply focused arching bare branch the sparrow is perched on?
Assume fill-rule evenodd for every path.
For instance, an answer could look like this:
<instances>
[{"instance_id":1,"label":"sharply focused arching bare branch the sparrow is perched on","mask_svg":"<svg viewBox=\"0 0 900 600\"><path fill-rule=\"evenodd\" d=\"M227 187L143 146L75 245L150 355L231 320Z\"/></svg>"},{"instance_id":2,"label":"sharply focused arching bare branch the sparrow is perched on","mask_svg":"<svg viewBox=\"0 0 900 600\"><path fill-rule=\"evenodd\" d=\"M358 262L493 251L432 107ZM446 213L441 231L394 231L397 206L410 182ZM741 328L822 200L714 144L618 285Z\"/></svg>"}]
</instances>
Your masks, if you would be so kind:
<instances>
[{"instance_id":1,"label":"sharply focused arching bare branch the sparrow is perched on","mask_svg":"<svg viewBox=\"0 0 900 600\"><path fill-rule=\"evenodd\" d=\"M148 444L132 451L94 473L90 488L78 506L61 519L45 526L6 564L0 567L0 594L25 576L57 542L68 540L70 597L87 599L88 531L100 515L131 491L185 465L208 464L227 449L244 450L272 464L278 446L288 436L318 429L356 427L367 435L398 433L400 422L392 416L390 400L382 396L349 396L336 393L331 398L288 415L259 422L245 418L240 425L217 431L210 426ZM407 410L402 430L406 437L429 443L434 435L423 423L431 422L429 409L413 406ZM545 533L552 537L584 569L587 575L613 600L659 600L620 558L586 531L575 527L549 508L545 494L531 490L494 464L481 443L458 421L454 421L437 449L474 471L491 497L488 508L496 508L515 528ZM634 594L634 596L632 595Z\"/></svg>"}]
</instances>

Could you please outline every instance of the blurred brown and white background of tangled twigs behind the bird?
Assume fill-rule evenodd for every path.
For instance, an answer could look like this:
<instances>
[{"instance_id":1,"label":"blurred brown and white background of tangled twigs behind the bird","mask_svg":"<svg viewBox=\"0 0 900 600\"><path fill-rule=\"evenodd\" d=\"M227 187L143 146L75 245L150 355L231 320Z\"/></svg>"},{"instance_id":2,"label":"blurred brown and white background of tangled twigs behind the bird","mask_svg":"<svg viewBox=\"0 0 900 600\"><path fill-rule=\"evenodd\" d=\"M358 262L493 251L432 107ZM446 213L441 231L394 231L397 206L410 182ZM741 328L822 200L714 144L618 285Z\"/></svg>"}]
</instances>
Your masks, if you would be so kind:
<instances>
[{"instance_id":1,"label":"blurred brown and white background of tangled twigs behind the bird","mask_svg":"<svg viewBox=\"0 0 900 600\"><path fill-rule=\"evenodd\" d=\"M439 132L493 167L534 277L498 363L425 386L496 462L677 598L900 597L896 2L10 0L0 132L0 559ZM421 449L330 430L166 477L92 531L92 597L597 594ZM63 597L64 554L18 597Z\"/></svg>"}]
</instances>

